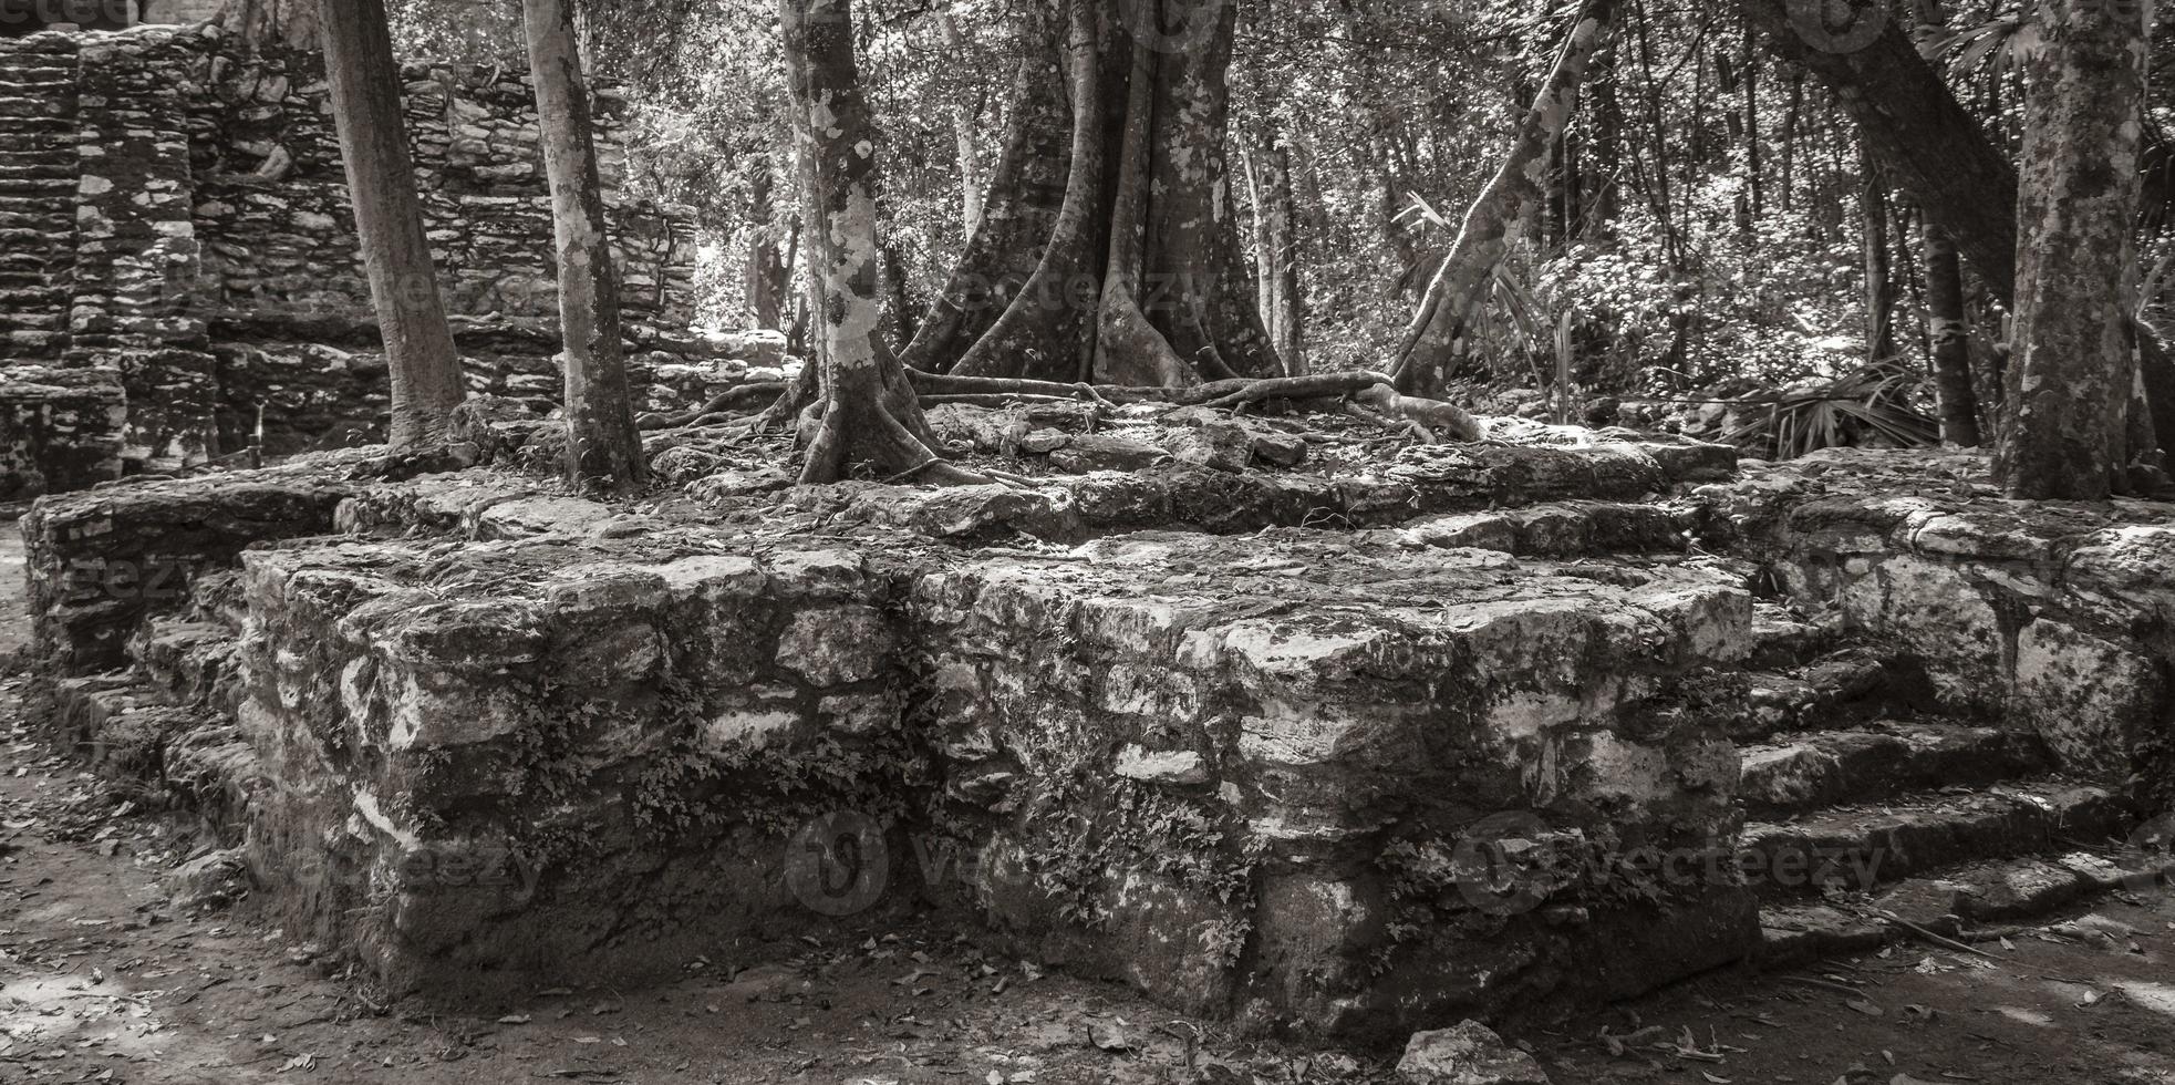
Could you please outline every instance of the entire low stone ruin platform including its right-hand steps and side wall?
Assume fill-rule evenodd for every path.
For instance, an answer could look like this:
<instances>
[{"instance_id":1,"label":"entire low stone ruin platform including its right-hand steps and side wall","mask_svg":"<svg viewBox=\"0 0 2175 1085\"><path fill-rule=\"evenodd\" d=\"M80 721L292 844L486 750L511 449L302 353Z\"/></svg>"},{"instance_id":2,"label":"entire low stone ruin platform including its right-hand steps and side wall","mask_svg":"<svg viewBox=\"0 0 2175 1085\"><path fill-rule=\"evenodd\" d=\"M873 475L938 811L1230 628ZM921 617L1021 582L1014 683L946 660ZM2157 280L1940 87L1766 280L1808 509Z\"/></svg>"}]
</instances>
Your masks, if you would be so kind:
<instances>
[{"instance_id":1,"label":"entire low stone ruin platform including its right-hand steps and side wall","mask_svg":"<svg viewBox=\"0 0 2175 1085\"><path fill-rule=\"evenodd\" d=\"M1940 926L2155 874L2077 844L2166 809L2175 509L1664 448L948 491L748 457L642 507L346 454L24 531L65 737L394 989L933 909L1401 1039L1886 937L1840 900Z\"/></svg>"}]
</instances>

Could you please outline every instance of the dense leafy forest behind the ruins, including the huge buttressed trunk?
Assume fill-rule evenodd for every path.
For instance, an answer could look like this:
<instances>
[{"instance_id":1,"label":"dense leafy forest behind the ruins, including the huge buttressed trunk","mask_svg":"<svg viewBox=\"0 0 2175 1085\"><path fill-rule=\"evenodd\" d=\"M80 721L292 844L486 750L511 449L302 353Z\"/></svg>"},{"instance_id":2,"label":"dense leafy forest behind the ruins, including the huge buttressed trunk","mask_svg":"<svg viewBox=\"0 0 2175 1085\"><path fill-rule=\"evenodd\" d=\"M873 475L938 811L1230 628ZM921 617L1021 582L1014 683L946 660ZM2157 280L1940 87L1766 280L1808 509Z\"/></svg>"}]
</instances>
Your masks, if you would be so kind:
<instances>
[{"instance_id":1,"label":"dense leafy forest behind the ruins, including the huge buttressed trunk","mask_svg":"<svg viewBox=\"0 0 2175 1085\"><path fill-rule=\"evenodd\" d=\"M972 376L1638 400L1768 454L1977 444L2066 7L2099 4L1124 0L1081 30L1057 0L861 0L885 341ZM639 185L700 215L703 317L805 352L779 4L576 9L639 104ZM513 59L518 26L518 2L394 2L409 54ZM2145 85L2125 289L2160 333L2175 172L2166 80ZM1868 98L1903 120L1866 126Z\"/></svg>"}]
</instances>

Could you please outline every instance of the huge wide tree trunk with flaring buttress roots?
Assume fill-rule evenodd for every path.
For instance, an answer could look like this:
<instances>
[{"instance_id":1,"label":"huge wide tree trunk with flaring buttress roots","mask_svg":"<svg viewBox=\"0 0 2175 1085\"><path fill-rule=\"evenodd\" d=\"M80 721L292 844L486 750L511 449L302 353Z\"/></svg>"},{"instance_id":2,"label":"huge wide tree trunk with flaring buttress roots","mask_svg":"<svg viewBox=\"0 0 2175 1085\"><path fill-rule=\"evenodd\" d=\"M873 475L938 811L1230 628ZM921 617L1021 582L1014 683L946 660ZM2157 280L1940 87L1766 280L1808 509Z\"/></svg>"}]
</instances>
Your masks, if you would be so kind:
<instances>
[{"instance_id":1,"label":"huge wide tree trunk with flaring buttress roots","mask_svg":"<svg viewBox=\"0 0 2175 1085\"><path fill-rule=\"evenodd\" d=\"M1238 244L1233 4L1057 0L916 370L1192 385L1279 372Z\"/></svg>"}]
</instances>

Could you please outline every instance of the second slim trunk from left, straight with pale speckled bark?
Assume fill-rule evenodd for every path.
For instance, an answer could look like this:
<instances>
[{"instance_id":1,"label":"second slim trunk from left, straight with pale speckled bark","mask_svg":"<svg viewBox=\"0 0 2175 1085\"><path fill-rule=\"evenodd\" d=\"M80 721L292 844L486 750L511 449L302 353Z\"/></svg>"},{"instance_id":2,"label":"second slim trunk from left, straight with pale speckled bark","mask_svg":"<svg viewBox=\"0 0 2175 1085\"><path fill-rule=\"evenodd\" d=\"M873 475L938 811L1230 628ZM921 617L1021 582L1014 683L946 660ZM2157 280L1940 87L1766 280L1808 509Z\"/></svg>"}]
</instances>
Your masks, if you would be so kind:
<instances>
[{"instance_id":1,"label":"second slim trunk from left, straight with pale speckled bark","mask_svg":"<svg viewBox=\"0 0 2175 1085\"><path fill-rule=\"evenodd\" d=\"M642 435L626 391L620 272L611 263L605 185L596 170L589 78L581 70L568 0L522 0L537 133L550 176L566 350L568 478L576 489L624 494L642 485Z\"/></svg>"}]
</instances>

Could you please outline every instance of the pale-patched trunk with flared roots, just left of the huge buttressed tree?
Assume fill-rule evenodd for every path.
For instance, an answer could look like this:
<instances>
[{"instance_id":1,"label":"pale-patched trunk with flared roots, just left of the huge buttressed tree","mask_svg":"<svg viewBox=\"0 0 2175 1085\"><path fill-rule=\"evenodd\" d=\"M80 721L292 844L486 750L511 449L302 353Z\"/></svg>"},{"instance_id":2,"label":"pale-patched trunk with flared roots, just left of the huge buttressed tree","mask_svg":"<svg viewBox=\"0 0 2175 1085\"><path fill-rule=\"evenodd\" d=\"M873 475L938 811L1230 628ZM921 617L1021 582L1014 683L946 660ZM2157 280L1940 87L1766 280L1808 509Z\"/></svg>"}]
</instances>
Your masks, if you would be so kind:
<instances>
[{"instance_id":1,"label":"pale-patched trunk with flared roots, just left of the huge buttressed tree","mask_svg":"<svg viewBox=\"0 0 2175 1085\"><path fill-rule=\"evenodd\" d=\"M809 278L822 357L820 398L805 411L800 481L833 483L863 461L883 476L979 481L935 454L920 400L883 344L877 141L853 54L853 4L779 0L779 15L809 185Z\"/></svg>"}]
</instances>

